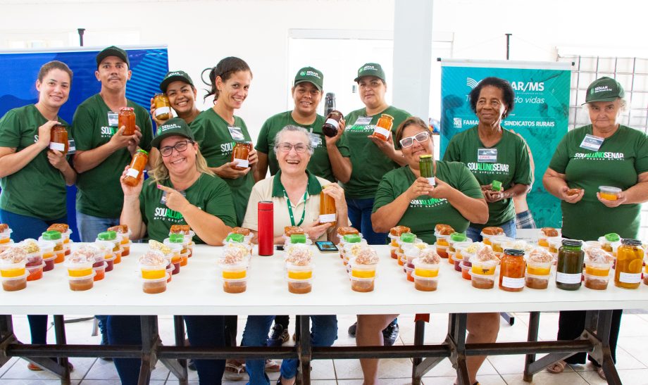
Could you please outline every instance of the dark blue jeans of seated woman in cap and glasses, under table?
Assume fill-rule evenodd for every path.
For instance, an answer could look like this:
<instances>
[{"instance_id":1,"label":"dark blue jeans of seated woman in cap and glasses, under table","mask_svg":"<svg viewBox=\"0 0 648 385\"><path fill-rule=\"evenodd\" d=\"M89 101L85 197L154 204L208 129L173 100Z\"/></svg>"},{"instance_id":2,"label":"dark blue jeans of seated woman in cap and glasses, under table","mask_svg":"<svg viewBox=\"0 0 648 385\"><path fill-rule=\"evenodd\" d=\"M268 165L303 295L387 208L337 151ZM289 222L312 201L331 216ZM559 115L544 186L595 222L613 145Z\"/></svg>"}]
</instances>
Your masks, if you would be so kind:
<instances>
[{"instance_id":1,"label":"dark blue jeans of seated woman in cap and glasses, under table","mask_svg":"<svg viewBox=\"0 0 648 385\"><path fill-rule=\"evenodd\" d=\"M189 343L196 348L225 346L225 318L222 315L185 315ZM111 345L142 345L142 324L139 315L108 315L108 343ZM137 358L115 358L115 367L122 385L137 385ZM194 360L200 385L220 384L225 360Z\"/></svg>"}]
</instances>

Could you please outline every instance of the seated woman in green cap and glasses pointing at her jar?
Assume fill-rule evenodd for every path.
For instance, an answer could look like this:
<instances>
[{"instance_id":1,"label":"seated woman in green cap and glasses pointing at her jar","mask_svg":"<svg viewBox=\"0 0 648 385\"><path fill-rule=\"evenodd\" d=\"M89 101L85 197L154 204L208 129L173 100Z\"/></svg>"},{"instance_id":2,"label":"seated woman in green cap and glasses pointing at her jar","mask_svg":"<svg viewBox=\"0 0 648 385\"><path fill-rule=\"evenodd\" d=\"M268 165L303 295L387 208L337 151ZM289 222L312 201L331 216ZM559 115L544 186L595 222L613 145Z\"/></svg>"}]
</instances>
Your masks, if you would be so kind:
<instances>
[{"instance_id":1,"label":"seated woman in green cap and glasses pointing at her jar","mask_svg":"<svg viewBox=\"0 0 648 385\"><path fill-rule=\"evenodd\" d=\"M151 141L160 152L151 170L151 178L136 187L124 184L126 166L120 179L124 206L120 223L132 230L132 239L148 234L163 241L171 225L189 225L196 233L196 243L221 246L234 226L235 214L230 189L207 168L189 126L180 118L158 127ZM168 211L173 210L173 213ZM225 317L185 315L189 343L194 347L225 346ZM108 343L141 345L139 316L108 316ZM115 358L115 366L124 384L137 384L141 361ZM201 384L220 384L225 360L194 360Z\"/></svg>"}]
</instances>

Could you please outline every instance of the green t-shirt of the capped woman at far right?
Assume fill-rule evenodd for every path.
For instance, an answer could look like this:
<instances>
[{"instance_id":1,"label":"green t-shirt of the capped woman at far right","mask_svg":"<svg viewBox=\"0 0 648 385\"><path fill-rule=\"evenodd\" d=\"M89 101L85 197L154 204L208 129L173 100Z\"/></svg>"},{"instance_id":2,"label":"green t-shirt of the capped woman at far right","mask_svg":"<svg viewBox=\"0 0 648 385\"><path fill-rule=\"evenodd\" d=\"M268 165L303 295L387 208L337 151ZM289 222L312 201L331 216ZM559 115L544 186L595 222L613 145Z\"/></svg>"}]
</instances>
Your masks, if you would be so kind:
<instances>
[{"instance_id":1,"label":"green t-shirt of the capped woman at far right","mask_svg":"<svg viewBox=\"0 0 648 385\"><path fill-rule=\"evenodd\" d=\"M599 186L625 191L637 184L637 175L648 172L648 136L623 125L603 141L598 151L583 149L582 139L592 134L592 125L568 132L561 140L549 168L564 174L569 188L585 189L578 203L561 203L563 235L592 241L616 232L622 238L637 238L641 205L604 206L597 199Z\"/></svg>"}]
</instances>

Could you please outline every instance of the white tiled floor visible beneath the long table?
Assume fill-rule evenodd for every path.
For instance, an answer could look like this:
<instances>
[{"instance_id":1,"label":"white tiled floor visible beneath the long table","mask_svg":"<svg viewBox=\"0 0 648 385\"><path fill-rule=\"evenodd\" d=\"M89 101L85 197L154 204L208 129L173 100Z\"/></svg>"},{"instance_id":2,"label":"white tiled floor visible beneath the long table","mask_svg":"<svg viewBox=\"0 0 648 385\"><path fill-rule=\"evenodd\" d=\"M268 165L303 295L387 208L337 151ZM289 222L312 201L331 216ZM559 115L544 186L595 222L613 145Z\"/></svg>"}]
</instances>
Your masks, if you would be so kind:
<instances>
[{"instance_id":1,"label":"white tiled floor visible beneath the long table","mask_svg":"<svg viewBox=\"0 0 648 385\"><path fill-rule=\"evenodd\" d=\"M525 341L528 313L516 313L513 326L501 320L498 341ZM66 319L75 316L66 316ZM355 321L355 317L338 317L339 336L335 345L354 345L355 340L347 335L347 328ZM240 334L244 329L244 317L239 319ZM15 334L20 341L30 341L29 327L25 316L13 318ZM409 344L413 341L413 315L399 317L400 336L397 343ZM294 319L291 320L294 327ZM558 328L557 313L543 313L540 317L540 339L555 339ZM162 341L173 341L173 320L169 316L159 317L159 329ZM447 329L447 315L433 314L430 324L425 327L425 341L435 343L442 341ZM91 336L91 321L66 324L68 343L97 343L98 336ZM54 330L49 330L49 341L54 341ZM617 369L623 384L648 385L648 313L625 312L621 324L621 336L617 348ZM72 372L73 385L118 385L119 377L111 362L96 358L73 358L75 370ZM311 381L316 385L361 385L362 372L358 360L316 360L313 362ZM528 384L522 379L524 368L523 355L490 356L482 365L478 379L482 385ZM411 360L391 359L380 361L380 384L402 385L411 383ZM270 379L276 380L277 373L271 373ZM196 372L189 372L189 384L197 385ZM453 384L454 369L448 360L442 361L430 372L425 374L423 384ZM244 381L224 381L225 384L244 385ZM0 385L54 385L60 384L54 375L46 372L31 372L27 370L27 362L12 358L6 365L0 367ZM177 380L163 365L158 364L151 375L151 384L177 384ZM567 367L562 374L540 372L533 377L533 384L551 385L587 385L606 384L599 378L592 365L575 365Z\"/></svg>"}]
</instances>

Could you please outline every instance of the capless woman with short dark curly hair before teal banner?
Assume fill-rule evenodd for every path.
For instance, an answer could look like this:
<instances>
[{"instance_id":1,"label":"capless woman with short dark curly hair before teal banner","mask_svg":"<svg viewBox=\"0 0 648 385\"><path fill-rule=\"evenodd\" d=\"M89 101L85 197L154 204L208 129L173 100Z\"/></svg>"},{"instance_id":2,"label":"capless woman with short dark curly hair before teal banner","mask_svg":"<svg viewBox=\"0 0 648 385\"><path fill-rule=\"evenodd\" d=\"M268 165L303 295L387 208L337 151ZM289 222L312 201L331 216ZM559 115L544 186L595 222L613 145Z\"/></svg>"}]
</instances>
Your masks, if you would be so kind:
<instances>
[{"instance_id":1,"label":"capless woman with short dark curly hair before teal banner","mask_svg":"<svg viewBox=\"0 0 648 385\"><path fill-rule=\"evenodd\" d=\"M469 99L478 125L454 135L443 157L468 166L488 203L488 222L472 222L466 235L473 241L481 241L482 229L496 226L515 238L513 197L525 194L531 187L527 146L521 137L501 127L501 120L513 111L515 91L504 79L486 77L473 88Z\"/></svg>"}]
</instances>

